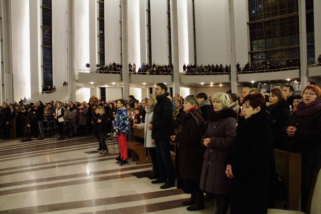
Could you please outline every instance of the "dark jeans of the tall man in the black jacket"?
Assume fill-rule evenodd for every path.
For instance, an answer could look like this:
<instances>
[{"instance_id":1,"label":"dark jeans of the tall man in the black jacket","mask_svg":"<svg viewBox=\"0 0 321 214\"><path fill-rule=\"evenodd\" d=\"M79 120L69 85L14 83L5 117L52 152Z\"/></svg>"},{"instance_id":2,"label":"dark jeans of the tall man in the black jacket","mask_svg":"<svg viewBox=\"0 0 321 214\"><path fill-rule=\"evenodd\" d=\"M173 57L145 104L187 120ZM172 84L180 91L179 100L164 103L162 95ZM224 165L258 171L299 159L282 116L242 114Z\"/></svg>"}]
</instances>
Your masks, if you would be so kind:
<instances>
[{"instance_id":1,"label":"dark jeans of the tall man in the black jacket","mask_svg":"<svg viewBox=\"0 0 321 214\"><path fill-rule=\"evenodd\" d=\"M173 159L170 155L169 140L155 140L156 154L159 161L160 179L168 184L175 184Z\"/></svg>"}]
</instances>

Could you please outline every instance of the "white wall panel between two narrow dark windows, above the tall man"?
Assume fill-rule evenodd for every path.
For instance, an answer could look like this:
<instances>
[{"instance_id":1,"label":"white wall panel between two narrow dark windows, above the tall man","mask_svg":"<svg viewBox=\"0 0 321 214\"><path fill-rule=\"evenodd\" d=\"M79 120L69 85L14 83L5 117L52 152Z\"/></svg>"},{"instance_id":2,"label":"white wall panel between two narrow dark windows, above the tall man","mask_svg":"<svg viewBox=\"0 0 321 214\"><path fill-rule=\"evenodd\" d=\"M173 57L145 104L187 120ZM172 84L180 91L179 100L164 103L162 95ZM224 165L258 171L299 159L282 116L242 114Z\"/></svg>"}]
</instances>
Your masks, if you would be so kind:
<instances>
[{"instance_id":1,"label":"white wall panel between two narrow dark windows, above the tall man","mask_svg":"<svg viewBox=\"0 0 321 214\"><path fill-rule=\"evenodd\" d=\"M151 0L152 60L168 63L167 0Z\"/></svg>"}]
</instances>

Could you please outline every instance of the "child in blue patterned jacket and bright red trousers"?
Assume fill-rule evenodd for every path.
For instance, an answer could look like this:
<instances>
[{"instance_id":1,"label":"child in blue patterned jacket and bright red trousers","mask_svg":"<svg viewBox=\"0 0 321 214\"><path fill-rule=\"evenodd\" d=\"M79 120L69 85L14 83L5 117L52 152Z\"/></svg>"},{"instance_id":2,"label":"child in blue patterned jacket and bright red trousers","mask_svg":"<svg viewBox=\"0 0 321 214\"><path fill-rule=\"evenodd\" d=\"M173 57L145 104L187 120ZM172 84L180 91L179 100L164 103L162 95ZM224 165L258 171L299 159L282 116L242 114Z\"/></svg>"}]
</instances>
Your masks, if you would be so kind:
<instances>
[{"instance_id":1,"label":"child in blue patterned jacket and bright red trousers","mask_svg":"<svg viewBox=\"0 0 321 214\"><path fill-rule=\"evenodd\" d=\"M120 161L116 162L120 166L128 165L128 149L127 149L127 133L128 133L128 114L125 108L125 100L119 99L117 101L117 112L114 122L114 136L118 136L120 146Z\"/></svg>"}]
</instances>

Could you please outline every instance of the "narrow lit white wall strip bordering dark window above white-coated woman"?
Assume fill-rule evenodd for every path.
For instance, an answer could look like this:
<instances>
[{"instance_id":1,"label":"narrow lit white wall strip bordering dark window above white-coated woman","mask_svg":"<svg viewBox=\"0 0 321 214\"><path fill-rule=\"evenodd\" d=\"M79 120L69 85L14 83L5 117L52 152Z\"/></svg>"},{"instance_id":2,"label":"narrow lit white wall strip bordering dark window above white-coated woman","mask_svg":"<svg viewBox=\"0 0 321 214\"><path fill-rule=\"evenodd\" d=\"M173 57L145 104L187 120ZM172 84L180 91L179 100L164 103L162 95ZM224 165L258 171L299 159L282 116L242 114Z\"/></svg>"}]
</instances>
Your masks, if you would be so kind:
<instances>
[{"instance_id":1,"label":"narrow lit white wall strip bordering dark window above white-coated woman","mask_svg":"<svg viewBox=\"0 0 321 214\"><path fill-rule=\"evenodd\" d=\"M147 5L146 0L139 0L139 29L140 29L140 64L136 63L136 71L147 61ZM138 15L138 14L136 14ZM152 62L153 63L153 62Z\"/></svg>"}]
</instances>

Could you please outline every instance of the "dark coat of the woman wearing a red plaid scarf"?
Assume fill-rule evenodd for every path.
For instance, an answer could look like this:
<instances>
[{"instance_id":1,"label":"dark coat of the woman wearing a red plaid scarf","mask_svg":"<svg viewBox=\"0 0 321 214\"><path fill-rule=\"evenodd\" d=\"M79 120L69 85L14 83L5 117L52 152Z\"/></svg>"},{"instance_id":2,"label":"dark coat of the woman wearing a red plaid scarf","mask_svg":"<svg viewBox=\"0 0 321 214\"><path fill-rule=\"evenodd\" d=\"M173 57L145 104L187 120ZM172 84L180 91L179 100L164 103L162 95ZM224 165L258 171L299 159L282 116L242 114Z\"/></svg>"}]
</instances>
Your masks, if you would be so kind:
<instances>
[{"instance_id":1,"label":"dark coat of the woman wearing a red plaid scarf","mask_svg":"<svg viewBox=\"0 0 321 214\"><path fill-rule=\"evenodd\" d=\"M177 133L175 138L178 142L180 177L199 181L205 151L201 144L205 124L198 126L196 119L189 113L183 118L181 126L182 132Z\"/></svg>"}]
</instances>

